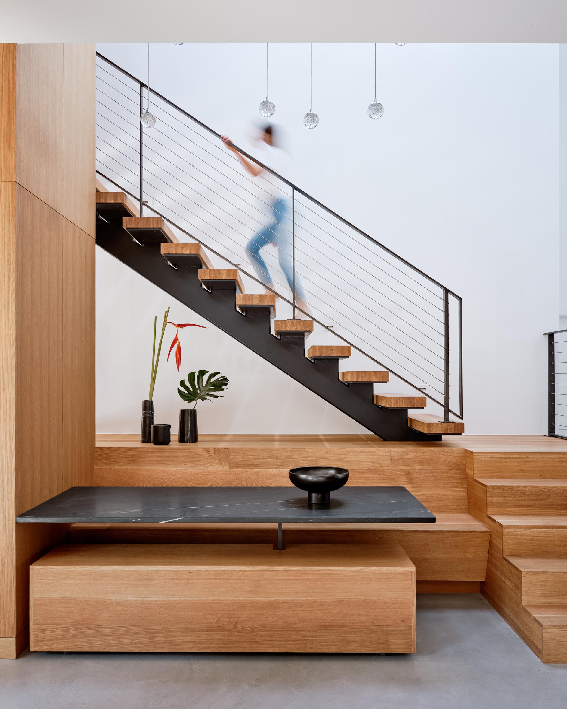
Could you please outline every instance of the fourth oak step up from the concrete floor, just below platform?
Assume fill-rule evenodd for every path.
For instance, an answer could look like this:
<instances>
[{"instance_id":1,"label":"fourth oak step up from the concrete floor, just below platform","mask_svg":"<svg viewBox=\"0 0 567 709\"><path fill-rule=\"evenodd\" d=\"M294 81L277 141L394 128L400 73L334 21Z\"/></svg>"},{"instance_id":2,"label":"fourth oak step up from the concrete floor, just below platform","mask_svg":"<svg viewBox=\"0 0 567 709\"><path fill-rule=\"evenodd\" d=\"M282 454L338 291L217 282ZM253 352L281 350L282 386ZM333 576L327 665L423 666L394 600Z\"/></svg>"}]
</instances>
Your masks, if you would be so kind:
<instances>
[{"instance_id":1,"label":"fourth oak step up from the concrete floor, just below platform","mask_svg":"<svg viewBox=\"0 0 567 709\"><path fill-rule=\"evenodd\" d=\"M567 510L567 479L484 478L486 512L497 514L557 514Z\"/></svg>"}]
</instances>

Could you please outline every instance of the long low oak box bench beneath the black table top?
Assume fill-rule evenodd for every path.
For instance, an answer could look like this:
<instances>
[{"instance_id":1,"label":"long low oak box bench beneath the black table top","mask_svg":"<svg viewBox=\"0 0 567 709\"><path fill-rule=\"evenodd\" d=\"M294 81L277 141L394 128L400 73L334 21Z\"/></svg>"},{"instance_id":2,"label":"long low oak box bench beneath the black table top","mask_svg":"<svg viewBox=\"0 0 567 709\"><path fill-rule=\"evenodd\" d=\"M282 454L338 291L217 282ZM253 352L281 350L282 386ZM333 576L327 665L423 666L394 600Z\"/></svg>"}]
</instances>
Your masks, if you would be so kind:
<instances>
[{"instance_id":1,"label":"long low oak box bench beneath the black table top","mask_svg":"<svg viewBox=\"0 0 567 709\"><path fill-rule=\"evenodd\" d=\"M30 650L415 652L383 545L62 545L30 566Z\"/></svg>"}]
</instances>

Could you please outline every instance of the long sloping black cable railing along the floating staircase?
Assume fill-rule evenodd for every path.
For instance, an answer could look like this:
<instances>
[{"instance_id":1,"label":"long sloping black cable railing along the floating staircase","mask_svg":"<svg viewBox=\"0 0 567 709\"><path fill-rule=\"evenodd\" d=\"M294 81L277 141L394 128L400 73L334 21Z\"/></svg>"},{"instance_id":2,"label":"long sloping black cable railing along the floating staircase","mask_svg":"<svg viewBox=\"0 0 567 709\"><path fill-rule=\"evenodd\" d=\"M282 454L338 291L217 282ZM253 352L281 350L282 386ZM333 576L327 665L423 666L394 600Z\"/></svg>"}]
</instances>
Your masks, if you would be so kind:
<instances>
[{"instance_id":1,"label":"long sloping black cable railing along the floating staircase","mask_svg":"<svg viewBox=\"0 0 567 709\"><path fill-rule=\"evenodd\" d=\"M247 174L218 133L98 53L96 68L96 169L140 215L166 219L180 240L279 296L289 316L351 345L360 368L388 369L444 420L462 418L459 296L231 145L259 168ZM150 129L140 123L148 103Z\"/></svg>"}]
</instances>

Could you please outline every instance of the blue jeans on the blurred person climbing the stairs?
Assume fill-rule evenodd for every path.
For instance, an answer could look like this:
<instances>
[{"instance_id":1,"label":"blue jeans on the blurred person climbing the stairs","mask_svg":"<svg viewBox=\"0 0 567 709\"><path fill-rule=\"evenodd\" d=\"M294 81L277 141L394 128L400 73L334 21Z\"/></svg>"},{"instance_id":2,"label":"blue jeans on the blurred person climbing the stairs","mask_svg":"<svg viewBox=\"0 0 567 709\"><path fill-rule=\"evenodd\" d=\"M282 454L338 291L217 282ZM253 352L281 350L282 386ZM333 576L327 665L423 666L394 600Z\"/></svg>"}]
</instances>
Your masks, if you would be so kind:
<instances>
[{"instance_id":1,"label":"blue jeans on the blurred person climbing the stairs","mask_svg":"<svg viewBox=\"0 0 567 709\"><path fill-rule=\"evenodd\" d=\"M252 262L252 267L254 268L259 280L262 281L265 286L274 287L274 282L271 279L268 267L264 263L262 256L260 256L260 250L269 244L276 245L276 247L278 247L279 265L286 277L286 280L288 281L289 289L293 291L293 260L291 255L291 244L283 237L284 230L282 226L283 220L288 219L290 216L291 208L289 206L288 199L285 197L274 197L271 203L271 211L273 212L274 221L264 227L264 229L262 229L259 233L254 234L252 239L250 239L247 243L246 250L249 254L250 261ZM305 301L305 293L301 287L301 281L299 280L297 272L296 297L300 298L302 301Z\"/></svg>"}]
</instances>

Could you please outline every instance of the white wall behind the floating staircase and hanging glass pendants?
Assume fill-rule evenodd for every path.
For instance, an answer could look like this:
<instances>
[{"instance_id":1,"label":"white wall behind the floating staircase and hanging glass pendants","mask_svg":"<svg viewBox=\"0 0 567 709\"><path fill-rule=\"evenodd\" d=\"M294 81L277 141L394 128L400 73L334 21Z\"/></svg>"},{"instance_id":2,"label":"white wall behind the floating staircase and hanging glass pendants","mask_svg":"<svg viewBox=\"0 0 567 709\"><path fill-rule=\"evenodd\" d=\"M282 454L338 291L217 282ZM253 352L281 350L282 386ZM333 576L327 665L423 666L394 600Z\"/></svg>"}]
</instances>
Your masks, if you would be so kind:
<instances>
[{"instance_id":1,"label":"white wall behind the floating staircase and hanging glass pendants","mask_svg":"<svg viewBox=\"0 0 567 709\"><path fill-rule=\"evenodd\" d=\"M152 45L150 84L244 144L264 50ZM145 79L145 45L99 51ZM270 45L269 94L296 182L463 297L467 432L543 433L541 333L559 314L557 45L378 45L380 121L366 117L373 59L373 45L313 46L321 122L306 130L308 45ZM202 320L101 252L97 284L97 430L135 431L153 316L172 304L174 320ZM202 432L361 431L215 328L183 335L182 374L231 380L225 399L199 406ZM180 378L163 360L160 420L176 424Z\"/></svg>"}]
</instances>

